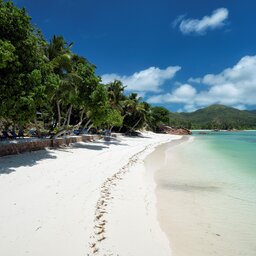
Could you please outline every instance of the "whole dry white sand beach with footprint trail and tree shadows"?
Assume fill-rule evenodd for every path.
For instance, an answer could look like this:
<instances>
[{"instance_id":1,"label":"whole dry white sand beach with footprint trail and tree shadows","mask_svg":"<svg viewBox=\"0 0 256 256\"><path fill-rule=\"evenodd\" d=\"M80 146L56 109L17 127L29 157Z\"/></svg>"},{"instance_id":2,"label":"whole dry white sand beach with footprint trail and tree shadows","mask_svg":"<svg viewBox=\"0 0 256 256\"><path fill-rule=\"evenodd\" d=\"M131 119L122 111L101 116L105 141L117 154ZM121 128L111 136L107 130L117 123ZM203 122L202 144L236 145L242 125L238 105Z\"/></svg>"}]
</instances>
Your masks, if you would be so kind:
<instances>
[{"instance_id":1,"label":"whole dry white sand beach with footprint trail and tree shadows","mask_svg":"<svg viewBox=\"0 0 256 256\"><path fill-rule=\"evenodd\" d=\"M170 255L142 160L180 136L146 136L0 158L0 255Z\"/></svg>"}]
</instances>

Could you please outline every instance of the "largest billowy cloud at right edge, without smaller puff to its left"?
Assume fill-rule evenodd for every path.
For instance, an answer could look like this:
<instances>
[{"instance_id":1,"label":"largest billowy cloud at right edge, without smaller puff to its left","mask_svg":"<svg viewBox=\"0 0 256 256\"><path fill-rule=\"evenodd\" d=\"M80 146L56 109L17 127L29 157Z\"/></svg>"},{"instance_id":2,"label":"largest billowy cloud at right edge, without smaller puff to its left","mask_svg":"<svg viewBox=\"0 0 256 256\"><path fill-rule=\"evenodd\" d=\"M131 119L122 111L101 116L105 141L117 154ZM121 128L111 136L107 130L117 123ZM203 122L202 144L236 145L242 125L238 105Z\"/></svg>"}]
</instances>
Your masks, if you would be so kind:
<instances>
[{"instance_id":1,"label":"largest billowy cloud at right edge, without smaller puff to its left","mask_svg":"<svg viewBox=\"0 0 256 256\"><path fill-rule=\"evenodd\" d=\"M217 75L204 76L202 83L210 88L198 96L198 104L206 100L227 105L256 105L256 55L243 57Z\"/></svg>"}]
</instances>

